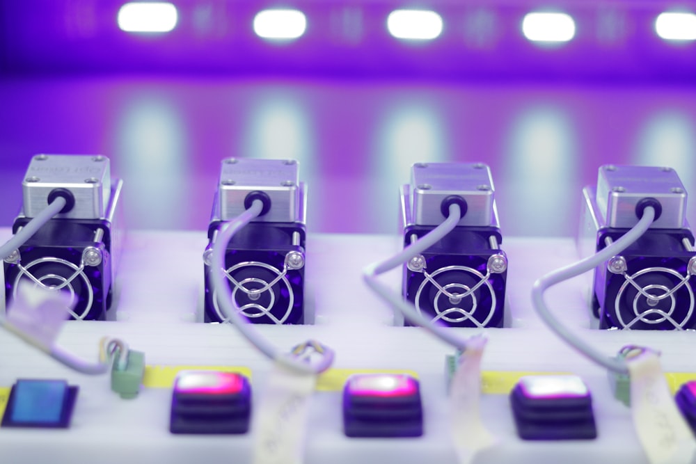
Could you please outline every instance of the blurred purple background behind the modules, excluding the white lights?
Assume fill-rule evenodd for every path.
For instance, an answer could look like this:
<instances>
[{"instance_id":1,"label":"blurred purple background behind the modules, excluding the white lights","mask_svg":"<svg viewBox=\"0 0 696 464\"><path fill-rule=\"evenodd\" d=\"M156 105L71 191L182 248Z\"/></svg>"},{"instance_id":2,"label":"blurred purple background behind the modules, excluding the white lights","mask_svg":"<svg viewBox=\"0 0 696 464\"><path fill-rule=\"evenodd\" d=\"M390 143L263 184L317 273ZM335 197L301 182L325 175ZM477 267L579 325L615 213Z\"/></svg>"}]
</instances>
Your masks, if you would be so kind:
<instances>
[{"instance_id":1,"label":"blurred purple background behind the modules, excluding the white lights","mask_svg":"<svg viewBox=\"0 0 696 464\"><path fill-rule=\"evenodd\" d=\"M147 229L204 230L230 156L298 159L311 232L395 233L417 161L488 163L508 236L573 235L603 163L696 193L696 43L656 36L667 3L556 1L578 32L553 48L519 31L531 0L419 4L445 28L418 45L386 33L398 1L290 2L308 28L283 44L248 26L268 2L174 1L157 36L120 31L122 3L0 3L0 226L36 153L109 156Z\"/></svg>"}]
</instances>

